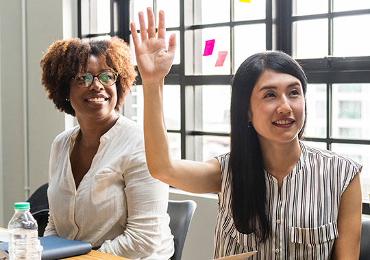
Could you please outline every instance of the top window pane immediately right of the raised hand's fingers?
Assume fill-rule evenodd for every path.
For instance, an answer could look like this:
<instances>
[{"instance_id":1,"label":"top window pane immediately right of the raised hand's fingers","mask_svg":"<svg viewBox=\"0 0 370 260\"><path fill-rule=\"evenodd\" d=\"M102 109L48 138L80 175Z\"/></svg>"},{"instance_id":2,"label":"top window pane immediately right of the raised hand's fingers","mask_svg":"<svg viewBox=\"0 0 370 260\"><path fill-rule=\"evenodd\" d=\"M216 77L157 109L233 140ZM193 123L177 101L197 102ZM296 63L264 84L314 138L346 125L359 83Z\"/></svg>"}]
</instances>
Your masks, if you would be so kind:
<instances>
[{"instance_id":1,"label":"top window pane immediately right of the raised hand's fingers","mask_svg":"<svg viewBox=\"0 0 370 260\"><path fill-rule=\"evenodd\" d=\"M164 11L167 28L180 26L180 0L157 0L157 15L160 10Z\"/></svg>"}]
</instances>

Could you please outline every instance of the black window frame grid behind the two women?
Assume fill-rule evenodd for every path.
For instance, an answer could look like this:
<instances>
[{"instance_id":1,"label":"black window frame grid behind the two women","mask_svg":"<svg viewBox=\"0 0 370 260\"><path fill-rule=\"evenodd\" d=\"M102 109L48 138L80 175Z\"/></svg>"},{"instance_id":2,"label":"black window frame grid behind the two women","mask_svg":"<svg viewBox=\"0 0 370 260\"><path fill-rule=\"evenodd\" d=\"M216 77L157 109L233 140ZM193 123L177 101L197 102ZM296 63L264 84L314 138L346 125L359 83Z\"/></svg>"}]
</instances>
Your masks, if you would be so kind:
<instances>
[{"instance_id":1,"label":"black window frame grid behind the two women","mask_svg":"<svg viewBox=\"0 0 370 260\"><path fill-rule=\"evenodd\" d=\"M218 23L212 25L190 25L185 24L185 12L193 12L193 6L189 3L193 0L180 0L180 26L167 29L167 31L180 31L180 64L172 66L169 75L165 79L165 84L179 85L181 96L181 126L180 130L171 130L169 133L180 133L181 136L181 154L182 159L197 159L195 156L195 137L204 135L228 137L230 133L196 131L195 123L189 120L187 115L194 114L194 89L191 86L203 85L230 85L233 73L236 69L231 60L230 75L186 75L185 68L185 33L189 30L205 29L210 27L228 26L231 28L230 44L231 52L233 49L233 28L236 25L247 25L253 23L265 23L266 25L266 47L267 49L281 50L286 53L292 53L292 28L295 21L304 21L314 18L328 18L328 56L317 59L297 59L304 67L308 75L308 83L323 83L327 86L327 105L326 105L326 123L327 131L325 138L307 137L307 140L313 142L323 142L330 149L333 143L341 144L366 144L370 145L370 140L356 140L346 138L331 137L331 115L332 115L332 84L334 83L370 83L370 56L363 57L334 57L332 56L332 19L340 16L351 16L359 14L370 14L370 9L351 10L345 12L332 12L332 2L328 1L328 10L326 14L313 14L305 16L293 16L293 0L266 0L266 18L260 21L238 21L228 23ZM195 0L196 1L196 0ZM232 21L232 5L230 1L230 21ZM89 0L78 0L78 35L79 38L93 38L106 34L89 34L88 26L90 23L88 10ZM156 0L153 0L153 6L156 6ZM84 12L82 12L84 10ZM110 1L110 24L111 31L108 35L118 36L126 42L130 42L130 0L111 0ZM155 12L157 10L154 10ZM193 13L192 13L193 14ZM232 59L233 53L230 55ZM141 84L140 75L136 81ZM190 86L190 88L189 88ZM362 212L370 214L369 203L363 203Z\"/></svg>"}]
</instances>

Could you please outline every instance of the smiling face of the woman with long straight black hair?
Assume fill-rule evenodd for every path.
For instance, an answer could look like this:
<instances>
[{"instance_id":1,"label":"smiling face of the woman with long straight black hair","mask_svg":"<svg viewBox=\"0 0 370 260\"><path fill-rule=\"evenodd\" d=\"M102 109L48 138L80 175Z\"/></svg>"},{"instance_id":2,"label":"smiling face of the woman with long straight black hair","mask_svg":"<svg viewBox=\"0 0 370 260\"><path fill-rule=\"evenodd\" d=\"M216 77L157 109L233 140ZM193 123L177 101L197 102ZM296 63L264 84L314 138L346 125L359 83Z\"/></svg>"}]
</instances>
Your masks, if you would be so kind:
<instances>
[{"instance_id":1,"label":"smiling face of the woman with long straight black hair","mask_svg":"<svg viewBox=\"0 0 370 260\"><path fill-rule=\"evenodd\" d=\"M254 86L249 109L260 144L297 141L305 120L304 104L299 79L265 70Z\"/></svg>"}]
</instances>

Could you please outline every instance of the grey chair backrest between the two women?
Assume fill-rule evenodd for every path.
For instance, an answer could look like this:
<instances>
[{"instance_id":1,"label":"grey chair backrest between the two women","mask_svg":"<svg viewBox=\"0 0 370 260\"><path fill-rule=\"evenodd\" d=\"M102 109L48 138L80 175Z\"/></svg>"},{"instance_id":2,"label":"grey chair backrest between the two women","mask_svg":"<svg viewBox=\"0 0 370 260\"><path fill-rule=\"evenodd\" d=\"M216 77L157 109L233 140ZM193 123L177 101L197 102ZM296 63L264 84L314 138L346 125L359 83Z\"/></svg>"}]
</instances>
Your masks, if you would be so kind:
<instances>
[{"instance_id":1,"label":"grey chair backrest between the two women","mask_svg":"<svg viewBox=\"0 0 370 260\"><path fill-rule=\"evenodd\" d=\"M171 218L170 228L175 242L175 253L171 260L180 260L184 249L186 235L197 203L193 200L169 200L167 212Z\"/></svg>"}]
</instances>

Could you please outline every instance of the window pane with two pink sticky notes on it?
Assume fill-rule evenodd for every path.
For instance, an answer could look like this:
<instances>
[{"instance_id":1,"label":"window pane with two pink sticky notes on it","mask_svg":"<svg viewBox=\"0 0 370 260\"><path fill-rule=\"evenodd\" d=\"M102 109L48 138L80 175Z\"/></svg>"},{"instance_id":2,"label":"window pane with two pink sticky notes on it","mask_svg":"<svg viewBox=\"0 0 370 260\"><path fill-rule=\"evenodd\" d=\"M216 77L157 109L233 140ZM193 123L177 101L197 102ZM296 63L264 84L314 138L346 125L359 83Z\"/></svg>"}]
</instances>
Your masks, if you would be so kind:
<instances>
[{"instance_id":1,"label":"window pane with two pink sticky notes on it","mask_svg":"<svg viewBox=\"0 0 370 260\"><path fill-rule=\"evenodd\" d=\"M212 54L204 56L206 41L214 40ZM201 49L199 49L201 47ZM198 49L197 49L198 48ZM219 51L227 51L223 66L216 66ZM195 75L230 74L230 27L195 30Z\"/></svg>"}]
</instances>

